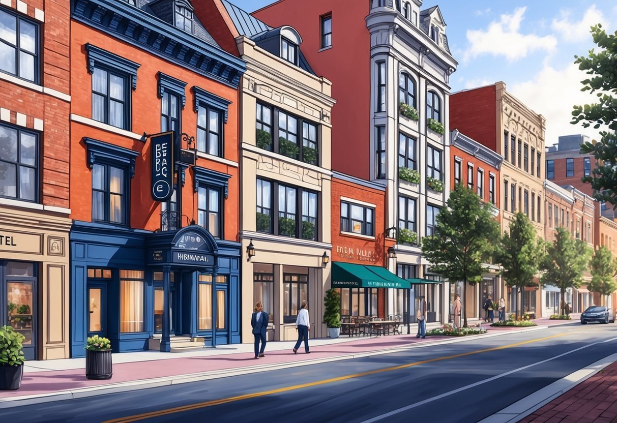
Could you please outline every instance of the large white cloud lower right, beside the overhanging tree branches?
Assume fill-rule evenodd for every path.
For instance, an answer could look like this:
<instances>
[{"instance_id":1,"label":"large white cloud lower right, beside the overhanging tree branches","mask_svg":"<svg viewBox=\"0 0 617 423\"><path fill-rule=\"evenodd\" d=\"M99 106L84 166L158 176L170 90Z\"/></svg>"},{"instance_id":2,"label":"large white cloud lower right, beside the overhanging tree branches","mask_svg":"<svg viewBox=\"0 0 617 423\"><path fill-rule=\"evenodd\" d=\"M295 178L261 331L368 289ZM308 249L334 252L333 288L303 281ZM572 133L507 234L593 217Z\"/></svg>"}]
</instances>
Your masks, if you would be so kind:
<instances>
[{"instance_id":1,"label":"large white cloud lower right, beside the overhanging tree branches","mask_svg":"<svg viewBox=\"0 0 617 423\"><path fill-rule=\"evenodd\" d=\"M523 83L507 86L516 98L546 119L545 144L552 146L561 135L586 134L598 139L600 129L583 128L581 124L572 125L572 107L597 101L595 94L582 92L581 81L586 73L577 65L569 64L561 70L548 64L533 78Z\"/></svg>"}]
</instances>

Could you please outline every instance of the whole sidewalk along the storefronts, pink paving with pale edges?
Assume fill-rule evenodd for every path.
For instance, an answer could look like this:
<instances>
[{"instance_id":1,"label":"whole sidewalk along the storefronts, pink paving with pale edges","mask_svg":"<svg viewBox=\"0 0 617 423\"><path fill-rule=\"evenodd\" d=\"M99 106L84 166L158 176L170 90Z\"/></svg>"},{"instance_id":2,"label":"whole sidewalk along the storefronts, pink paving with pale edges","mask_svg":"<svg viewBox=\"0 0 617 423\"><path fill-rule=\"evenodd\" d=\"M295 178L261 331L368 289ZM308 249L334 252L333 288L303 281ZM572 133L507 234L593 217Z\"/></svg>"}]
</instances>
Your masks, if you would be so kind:
<instances>
[{"instance_id":1,"label":"whole sidewalk along the storefronts, pink paving with pale edges","mask_svg":"<svg viewBox=\"0 0 617 423\"><path fill-rule=\"evenodd\" d=\"M489 324L482 324L482 327L487 329L487 334L475 337L533 331L556 324L570 323L549 321L549 319L537 319L535 322L539 326L490 327ZM427 326L427 330L430 330L439 327L439 324ZM114 376L110 380L86 379L85 358L27 362L22 387L15 391L0 391L0 409L378 355L425 345L463 342L474 338L474 336L431 336L418 339L415 337L416 327L416 325L410 327L410 335L406 334L405 326L402 327L405 335L312 339L310 355L304 353L303 347L300 347L297 355L294 355L291 351L295 343L293 341L268 342L265 357L260 359L254 358L252 343L223 345L184 353L158 351L119 353L113 355Z\"/></svg>"}]
</instances>

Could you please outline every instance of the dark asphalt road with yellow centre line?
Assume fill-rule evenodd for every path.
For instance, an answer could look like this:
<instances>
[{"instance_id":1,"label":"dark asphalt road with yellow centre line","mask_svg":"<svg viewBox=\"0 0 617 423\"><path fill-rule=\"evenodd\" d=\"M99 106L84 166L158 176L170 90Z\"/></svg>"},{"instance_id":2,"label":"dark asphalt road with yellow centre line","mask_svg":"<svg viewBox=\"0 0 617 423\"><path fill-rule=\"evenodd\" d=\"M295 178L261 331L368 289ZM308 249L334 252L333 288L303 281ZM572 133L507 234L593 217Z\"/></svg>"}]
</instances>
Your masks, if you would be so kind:
<instances>
[{"instance_id":1,"label":"dark asphalt road with yellow centre line","mask_svg":"<svg viewBox=\"0 0 617 423\"><path fill-rule=\"evenodd\" d=\"M561 326L361 359L14 409L25 422L477 422L617 350L617 324ZM146 416L139 416L147 413Z\"/></svg>"}]
</instances>

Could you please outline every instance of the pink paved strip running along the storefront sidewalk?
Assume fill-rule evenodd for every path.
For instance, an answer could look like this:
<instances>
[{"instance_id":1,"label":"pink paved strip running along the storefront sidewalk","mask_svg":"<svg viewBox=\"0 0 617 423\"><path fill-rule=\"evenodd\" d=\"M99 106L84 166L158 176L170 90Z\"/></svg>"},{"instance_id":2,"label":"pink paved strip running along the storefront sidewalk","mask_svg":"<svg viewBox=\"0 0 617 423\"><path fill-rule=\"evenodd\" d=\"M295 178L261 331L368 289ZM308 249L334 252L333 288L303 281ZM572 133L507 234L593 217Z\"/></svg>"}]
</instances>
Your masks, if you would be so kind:
<instances>
[{"instance_id":1,"label":"pink paved strip running along the storefront sidewalk","mask_svg":"<svg viewBox=\"0 0 617 423\"><path fill-rule=\"evenodd\" d=\"M555 322L553 324L558 323L559 322ZM561 321L561 323L563 323L563 321ZM549 322L544 322L542 319L539 319L539 324L544 326L545 324L549 324ZM489 327L489 324L482 324L482 327L487 329L489 334L525 329L521 327ZM297 355L294 355L291 349L289 351L268 352L266 348L265 358L260 358L259 360L255 359L252 353L234 353L220 356L196 356L138 361L134 363L114 364L114 376L110 380L86 379L83 368L61 371L28 372L24 374L22 386L19 390L0 391L0 398L40 395L78 388L117 384L119 382L366 353L370 351L406 347L414 343L436 342L445 339L452 339L452 337L430 336L426 339L417 339L415 337L415 332L412 331L412 335L386 335L373 338L360 337L350 340L349 342L314 346L311 347L310 355L305 354L304 347L301 346ZM162 365L160 361L164 361L164 365Z\"/></svg>"}]
</instances>

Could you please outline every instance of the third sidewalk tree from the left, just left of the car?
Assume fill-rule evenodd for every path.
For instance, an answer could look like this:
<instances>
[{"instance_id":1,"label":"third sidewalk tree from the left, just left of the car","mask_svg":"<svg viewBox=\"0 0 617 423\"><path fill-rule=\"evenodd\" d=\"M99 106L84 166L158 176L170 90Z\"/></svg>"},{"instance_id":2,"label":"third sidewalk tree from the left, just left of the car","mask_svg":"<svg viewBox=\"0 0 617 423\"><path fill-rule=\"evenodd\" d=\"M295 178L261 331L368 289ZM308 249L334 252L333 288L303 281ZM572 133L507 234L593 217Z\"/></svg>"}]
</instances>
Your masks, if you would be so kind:
<instances>
[{"instance_id":1,"label":"third sidewalk tree from the left, just left of the car","mask_svg":"<svg viewBox=\"0 0 617 423\"><path fill-rule=\"evenodd\" d=\"M557 228L555 240L547 245L547 252L540 262L545 273L542 285L554 285L561 292L561 314L564 311L566 289L578 288L582 283L582 273L587 268L591 248L580 239L574 239L566 228Z\"/></svg>"}]
</instances>

